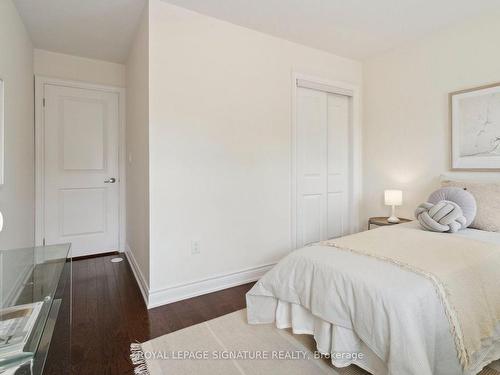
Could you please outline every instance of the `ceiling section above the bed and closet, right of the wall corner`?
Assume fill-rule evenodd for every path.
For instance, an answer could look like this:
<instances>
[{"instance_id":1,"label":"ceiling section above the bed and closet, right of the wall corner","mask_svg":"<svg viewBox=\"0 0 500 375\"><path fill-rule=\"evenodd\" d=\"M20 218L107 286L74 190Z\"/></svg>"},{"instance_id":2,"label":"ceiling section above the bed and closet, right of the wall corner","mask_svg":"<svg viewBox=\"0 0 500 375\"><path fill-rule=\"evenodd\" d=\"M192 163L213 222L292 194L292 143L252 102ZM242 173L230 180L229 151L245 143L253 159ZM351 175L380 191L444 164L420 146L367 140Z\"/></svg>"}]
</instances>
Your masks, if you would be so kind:
<instances>
[{"instance_id":1,"label":"ceiling section above the bed and closet, right of the wall corner","mask_svg":"<svg viewBox=\"0 0 500 375\"><path fill-rule=\"evenodd\" d=\"M499 0L164 1L355 59L500 9Z\"/></svg>"}]
</instances>

